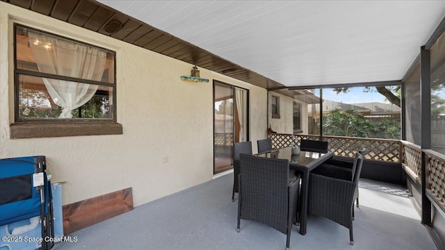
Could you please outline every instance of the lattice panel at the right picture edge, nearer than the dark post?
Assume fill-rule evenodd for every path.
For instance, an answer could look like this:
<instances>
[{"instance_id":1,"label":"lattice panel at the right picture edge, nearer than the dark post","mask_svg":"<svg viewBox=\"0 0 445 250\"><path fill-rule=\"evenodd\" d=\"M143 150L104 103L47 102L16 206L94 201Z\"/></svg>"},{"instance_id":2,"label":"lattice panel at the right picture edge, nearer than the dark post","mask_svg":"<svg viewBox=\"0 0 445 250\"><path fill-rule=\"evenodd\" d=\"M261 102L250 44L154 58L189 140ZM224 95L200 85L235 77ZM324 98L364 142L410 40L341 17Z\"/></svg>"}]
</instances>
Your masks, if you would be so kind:
<instances>
[{"instance_id":1,"label":"lattice panel at the right picture edge, nearer than the dark post","mask_svg":"<svg viewBox=\"0 0 445 250\"><path fill-rule=\"evenodd\" d=\"M445 211L445 156L432 150L425 150L428 194Z\"/></svg>"}]
</instances>

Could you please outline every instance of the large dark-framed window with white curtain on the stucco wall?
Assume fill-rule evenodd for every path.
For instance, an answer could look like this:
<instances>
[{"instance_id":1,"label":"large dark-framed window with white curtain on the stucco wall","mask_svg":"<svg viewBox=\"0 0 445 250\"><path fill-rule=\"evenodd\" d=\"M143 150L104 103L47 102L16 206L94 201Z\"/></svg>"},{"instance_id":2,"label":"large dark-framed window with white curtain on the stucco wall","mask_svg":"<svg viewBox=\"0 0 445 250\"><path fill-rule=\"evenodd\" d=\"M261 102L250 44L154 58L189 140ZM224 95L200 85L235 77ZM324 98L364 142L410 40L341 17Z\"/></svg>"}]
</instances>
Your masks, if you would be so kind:
<instances>
[{"instance_id":1,"label":"large dark-framed window with white curtain on the stucco wall","mask_svg":"<svg viewBox=\"0 0 445 250\"><path fill-rule=\"evenodd\" d=\"M115 114L114 51L15 24L16 123L115 123Z\"/></svg>"}]
</instances>

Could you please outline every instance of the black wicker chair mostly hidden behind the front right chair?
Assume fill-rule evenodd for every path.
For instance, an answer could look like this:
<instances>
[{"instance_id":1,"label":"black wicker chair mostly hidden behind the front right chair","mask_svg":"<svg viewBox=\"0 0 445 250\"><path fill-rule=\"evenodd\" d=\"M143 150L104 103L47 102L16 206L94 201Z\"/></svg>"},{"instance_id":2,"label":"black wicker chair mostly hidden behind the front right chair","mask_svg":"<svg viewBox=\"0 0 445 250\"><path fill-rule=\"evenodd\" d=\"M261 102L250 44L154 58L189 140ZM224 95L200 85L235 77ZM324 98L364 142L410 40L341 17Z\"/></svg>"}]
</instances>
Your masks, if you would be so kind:
<instances>
[{"instance_id":1,"label":"black wicker chair mostly hidden behind the front right chair","mask_svg":"<svg viewBox=\"0 0 445 250\"><path fill-rule=\"evenodd\" d=\"M362 156L364 160L364 155L366 154L366 149L362 149L358 151ZM329 172L346 172L350 176L350 180L352 181L354 178L353 173L355 173L354 169L354 163L347 161L347 160L341 160L338 158L332 158L316 169L314 169L313 173L315 174L321 174L321 175L327 175ZM360 177L360 176L359 176ZM359 207L359 187L358 187L358 181L357 181L357 208Z\"/></svg>"}]
</instances>

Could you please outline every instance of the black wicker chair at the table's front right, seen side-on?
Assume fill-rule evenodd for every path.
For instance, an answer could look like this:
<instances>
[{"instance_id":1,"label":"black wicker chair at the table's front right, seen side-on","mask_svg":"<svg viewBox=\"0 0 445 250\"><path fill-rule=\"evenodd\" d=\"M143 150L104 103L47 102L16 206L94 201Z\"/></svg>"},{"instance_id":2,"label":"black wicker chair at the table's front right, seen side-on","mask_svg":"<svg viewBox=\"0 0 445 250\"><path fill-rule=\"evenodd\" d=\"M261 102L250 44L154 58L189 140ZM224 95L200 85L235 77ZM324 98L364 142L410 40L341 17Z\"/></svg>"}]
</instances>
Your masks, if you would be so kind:
<instances>
[{"instance_id":1,"label":"black wicker chair at the table's front right, seen side-on","mask_svg":"<svg viewBox=\"0 0 445 250\"><path fill-rule=\"evenodd\" d=\"M325 217L349 228L350 244L354 244L354 201L358 196L356 188L362 165L363 156L357 152L352 181L350 175L341 171L332 171L330 176L309 174L309 213Z\"/></svg>"}]
</instances>

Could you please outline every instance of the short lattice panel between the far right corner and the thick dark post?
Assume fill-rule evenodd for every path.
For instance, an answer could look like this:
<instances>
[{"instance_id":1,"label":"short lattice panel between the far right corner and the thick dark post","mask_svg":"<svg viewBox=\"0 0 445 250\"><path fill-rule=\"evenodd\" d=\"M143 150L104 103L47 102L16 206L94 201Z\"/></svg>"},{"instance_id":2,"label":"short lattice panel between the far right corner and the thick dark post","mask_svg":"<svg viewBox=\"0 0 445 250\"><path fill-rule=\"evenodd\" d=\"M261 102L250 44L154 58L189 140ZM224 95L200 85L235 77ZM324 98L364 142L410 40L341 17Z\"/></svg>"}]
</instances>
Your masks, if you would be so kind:
<instances>
[{"instance_id":1,"label":"short lattice panel between the far right corner and the thick dark post","mask_svg":"<svg viewBox=\"0 0 445 250\"><path fill-rule=\"evenodd\" d=\"M404 167L410 169L410 172L414 174L413 178L421 178L422 172L422 150L421 147L410 142L402 142L402 152Z\"/></svg>"}]
</instances>

